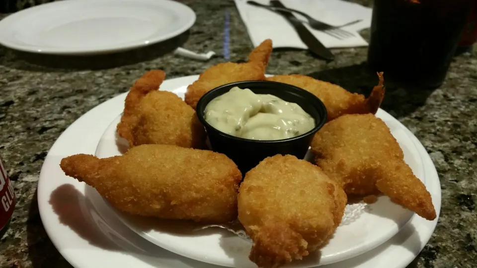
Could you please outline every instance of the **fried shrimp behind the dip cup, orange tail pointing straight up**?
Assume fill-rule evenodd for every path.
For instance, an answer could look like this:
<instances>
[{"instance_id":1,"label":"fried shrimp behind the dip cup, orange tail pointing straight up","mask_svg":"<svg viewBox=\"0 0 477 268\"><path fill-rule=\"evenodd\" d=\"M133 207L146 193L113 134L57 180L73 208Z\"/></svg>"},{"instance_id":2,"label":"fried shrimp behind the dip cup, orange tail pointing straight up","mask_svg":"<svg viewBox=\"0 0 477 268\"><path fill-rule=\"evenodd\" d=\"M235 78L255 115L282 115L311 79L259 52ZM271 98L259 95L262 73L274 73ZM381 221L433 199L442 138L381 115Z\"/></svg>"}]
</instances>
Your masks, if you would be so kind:
<instances>
[{"instance_id":1,"label":"fried shrimp behind the dip cup, orange tail pointing straight up","mask_svg":"<svg viewBox=\"0 0 477 268\"><path fill-rule=\"evenodd\" d=\"M264 80L271 52L272 41L267 39L248 55L246 63L221 63L206 69L199 79L187 87L185 102L195 109L200 97L218 86L246 80Z\"/></svg>"}]
</instances>

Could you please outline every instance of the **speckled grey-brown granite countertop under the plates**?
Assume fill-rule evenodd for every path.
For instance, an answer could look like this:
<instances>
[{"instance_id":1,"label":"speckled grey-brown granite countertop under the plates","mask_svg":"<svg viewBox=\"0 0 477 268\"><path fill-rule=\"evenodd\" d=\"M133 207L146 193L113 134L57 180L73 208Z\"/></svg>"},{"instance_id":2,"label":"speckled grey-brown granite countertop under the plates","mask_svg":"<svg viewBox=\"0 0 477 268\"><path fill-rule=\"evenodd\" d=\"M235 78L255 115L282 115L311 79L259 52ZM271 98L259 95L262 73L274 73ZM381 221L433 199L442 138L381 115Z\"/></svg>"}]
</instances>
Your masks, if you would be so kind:
<instances>
[{"instance_id":1,"label":"speckled grey-brown granite countertop under the plates","mask_svg":"<svg viewBox=\"0 0 477 268\"><path fill-rule=\"evenodd\" d=\"M0 154L18 199L1 238L0 267L71 267L48 238L36 201L43 160L58 136L89 109L128 90L145 71L167 78L198 74L202 63L179 58L178 44L222 51L224 9L231 12L231 57L252 48L233 1L184 0L197 13L192 29L167 42L119 55L85 58L14 53L0 47ZM362 0L369 4L370 0ZM1 17L0 17L1 18ZM368 32L362 33L366 38ZM274 51L269 73L312 73L350 91L369 93L377 78L366 71L366 48L333 50L331 63L305 51ZM477 267L477 57L456 57L436 90L388 87L382 108L408 127L429 152L442 184L442 209L429 243L412 267Z\"/></svg>"}]
</instances>

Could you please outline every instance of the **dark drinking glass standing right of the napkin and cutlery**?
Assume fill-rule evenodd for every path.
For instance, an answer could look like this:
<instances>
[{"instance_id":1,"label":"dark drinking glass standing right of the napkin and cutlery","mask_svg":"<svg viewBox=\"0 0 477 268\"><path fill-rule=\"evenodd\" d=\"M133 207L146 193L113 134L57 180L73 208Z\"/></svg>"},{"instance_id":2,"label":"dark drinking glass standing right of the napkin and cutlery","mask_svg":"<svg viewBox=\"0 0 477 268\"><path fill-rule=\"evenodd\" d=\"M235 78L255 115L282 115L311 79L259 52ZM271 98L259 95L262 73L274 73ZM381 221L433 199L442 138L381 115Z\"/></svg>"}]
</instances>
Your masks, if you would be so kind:
<instances>
[{"instance_id":1,"label":"dark drinking glass standing right of the napkin and cutlery","mask_svg":"<svg viewBox=\"0 0 477 268\"><path fill-rule=\"evenodd\" d=\"M368 63L388 82L439 87L474 0L375 0Z\"/></svg>"}]
</instances>

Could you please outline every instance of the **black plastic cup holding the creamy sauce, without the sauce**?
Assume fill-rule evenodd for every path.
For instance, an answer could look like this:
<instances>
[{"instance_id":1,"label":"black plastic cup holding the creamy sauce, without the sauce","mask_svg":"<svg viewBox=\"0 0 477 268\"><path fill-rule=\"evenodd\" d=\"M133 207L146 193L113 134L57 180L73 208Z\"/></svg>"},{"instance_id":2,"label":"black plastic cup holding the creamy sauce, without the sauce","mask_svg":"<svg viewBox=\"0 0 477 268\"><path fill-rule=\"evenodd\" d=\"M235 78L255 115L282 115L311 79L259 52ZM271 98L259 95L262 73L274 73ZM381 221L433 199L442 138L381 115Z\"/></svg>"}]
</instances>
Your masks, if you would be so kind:
<instances>
[{"instance_id":1,"label":"black plastic cup holding the creamy sauce, without the sauce","mask_svg":"<svg viewBox=\"0 0 477 268\"><path fill-rule=\"evenodd\" d=\"M315 119L315 128L296 137L279 140L254 140L225 134L212 127L204 118L207 104L233 87L248 88L256 94L270 94L298 104ZM315 133L326 122L326 107L312 93L289 84L272 81L242 81L219 86L207 92L197 103L197 117L209 136L212 150L232 159L243 175L268 156L290 154L303 159Z\"/></svg>"}]
</instances>

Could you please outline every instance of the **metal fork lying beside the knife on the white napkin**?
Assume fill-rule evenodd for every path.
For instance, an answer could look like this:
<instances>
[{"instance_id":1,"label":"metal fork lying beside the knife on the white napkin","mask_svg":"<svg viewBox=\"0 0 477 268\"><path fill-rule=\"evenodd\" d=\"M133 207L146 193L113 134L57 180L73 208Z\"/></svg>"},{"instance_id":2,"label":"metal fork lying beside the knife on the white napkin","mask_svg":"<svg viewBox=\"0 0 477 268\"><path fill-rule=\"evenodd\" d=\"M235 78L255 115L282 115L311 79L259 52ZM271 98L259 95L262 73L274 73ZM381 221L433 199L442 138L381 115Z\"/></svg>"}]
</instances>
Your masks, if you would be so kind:
<instances>
[{"instance_id":1,"label":"metal fork lying beside the knife on the white napkin","mask_svg":"<svg viewBox=\"0 0 477 268\"><path fill-rule=\"evenodd\" d=\"M327 23L318 21L318 20L312 18L307 13L304 13L300 10L296 10L296 9L292 9L292 8L286 8L286 7L275 7L275 6L271 6L271 5L261 4L261 3L255 2L255 1L247 1L247 4L267 8L271 11L280 10L280 11L288 11L288 12L298 13L298 14L304 16L305 18L307 18L308 25L310 25L310 27L312 27L313 29L318 30L318 31L322 31L322 32L334 37L334 38L341 39L341 40L354 36L353 33L350 33L348 31L340 29L341 27L352 25L352 24L355 24L355 23L358 23L358 22L361 21L361 19L358 19L358 20L354 20L354 21L345 23L343 25L333 26L333 25L329 25Z\"/></svg>"}]
</instances>

